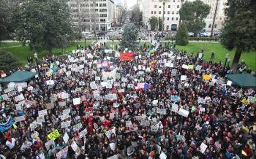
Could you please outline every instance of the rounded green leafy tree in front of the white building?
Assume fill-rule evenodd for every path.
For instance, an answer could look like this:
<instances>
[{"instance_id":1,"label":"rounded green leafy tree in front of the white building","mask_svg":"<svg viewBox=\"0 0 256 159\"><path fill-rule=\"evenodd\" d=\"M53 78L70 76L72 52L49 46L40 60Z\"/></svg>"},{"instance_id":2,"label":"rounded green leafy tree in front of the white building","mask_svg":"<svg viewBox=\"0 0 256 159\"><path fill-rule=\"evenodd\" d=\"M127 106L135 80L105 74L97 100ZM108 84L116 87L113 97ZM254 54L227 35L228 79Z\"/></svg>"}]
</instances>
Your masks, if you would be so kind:
<instances>
[{"instance_id":1,"label":"rounded green leafy tree in front of the white building","mask_svg":"<svg viewBox=\"0 0 256 159\"><path fill-rule=\"evenodd\" d=\"M204 19L210 12L210 6L200 0L186 1L179 11L181 20L187 24L187 29L195 36L205 27Z\"/></svg>"}]
</instances>

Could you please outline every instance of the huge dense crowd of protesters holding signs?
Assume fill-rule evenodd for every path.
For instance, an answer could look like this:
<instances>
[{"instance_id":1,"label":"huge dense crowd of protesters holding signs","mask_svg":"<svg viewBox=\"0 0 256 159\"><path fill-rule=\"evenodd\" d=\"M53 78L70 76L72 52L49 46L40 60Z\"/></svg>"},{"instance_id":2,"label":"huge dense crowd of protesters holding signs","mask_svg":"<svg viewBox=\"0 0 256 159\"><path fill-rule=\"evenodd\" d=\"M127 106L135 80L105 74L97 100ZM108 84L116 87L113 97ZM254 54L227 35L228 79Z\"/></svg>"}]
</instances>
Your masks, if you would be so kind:
<instances>
[{"instance_id":1,"label":"huge dense crowd of protesters holding signs","mask_svg":"<svg viewBox=\"0 0 256 159\"><path fill-rule=\"evenodd\" d=\"M78 47L2 84L0 158L255 157L255 89L230 84L223 63L159 43L120 51ZM38 73L28 61L20 70Z\"/></svg>"}]
</instances>

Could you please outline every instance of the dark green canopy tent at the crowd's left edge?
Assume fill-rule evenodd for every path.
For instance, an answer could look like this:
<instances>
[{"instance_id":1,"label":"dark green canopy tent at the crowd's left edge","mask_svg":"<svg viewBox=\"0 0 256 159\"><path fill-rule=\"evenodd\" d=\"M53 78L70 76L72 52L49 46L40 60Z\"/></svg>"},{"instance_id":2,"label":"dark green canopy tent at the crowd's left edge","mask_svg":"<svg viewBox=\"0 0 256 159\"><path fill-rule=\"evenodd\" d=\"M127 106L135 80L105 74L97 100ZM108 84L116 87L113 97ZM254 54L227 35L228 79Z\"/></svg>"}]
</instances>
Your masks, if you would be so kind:
<instances>
[{"instance_id":1,"label":"dark green canopy tent at the crowd's left edge","mask_svg":"<svg viewBox=\"0 0 256 159\"><path fill-rule=\"evenodd\" d=\"M9 82L26 82L27 80L33 78L36 75L34 72L28 71L16 71L10 76L0 80L1 83L9 83Z\"/></svg>"}]
</instances>

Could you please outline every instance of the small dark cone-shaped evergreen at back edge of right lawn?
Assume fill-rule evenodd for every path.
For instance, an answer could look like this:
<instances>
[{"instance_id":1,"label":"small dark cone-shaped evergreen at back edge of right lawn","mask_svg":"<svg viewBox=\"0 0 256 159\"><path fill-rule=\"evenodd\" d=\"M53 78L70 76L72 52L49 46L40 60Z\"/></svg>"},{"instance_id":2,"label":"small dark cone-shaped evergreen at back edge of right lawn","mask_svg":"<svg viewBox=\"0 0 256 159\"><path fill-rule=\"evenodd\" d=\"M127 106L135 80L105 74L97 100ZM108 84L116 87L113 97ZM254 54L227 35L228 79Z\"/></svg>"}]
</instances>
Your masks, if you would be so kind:
<instances>
[{"instance_id":1,"label":"small dark cone-shaped evergreen at back edge of right lawn","mask_svg":"<svg viewBox=\"0 0 256 159\"><path fill-rule=\"evenodd\" d=\"M175 43L180 46L186 46L188 44L187 27L184 22L181 23L177 31Z\"/></svg>"}]
</instances>

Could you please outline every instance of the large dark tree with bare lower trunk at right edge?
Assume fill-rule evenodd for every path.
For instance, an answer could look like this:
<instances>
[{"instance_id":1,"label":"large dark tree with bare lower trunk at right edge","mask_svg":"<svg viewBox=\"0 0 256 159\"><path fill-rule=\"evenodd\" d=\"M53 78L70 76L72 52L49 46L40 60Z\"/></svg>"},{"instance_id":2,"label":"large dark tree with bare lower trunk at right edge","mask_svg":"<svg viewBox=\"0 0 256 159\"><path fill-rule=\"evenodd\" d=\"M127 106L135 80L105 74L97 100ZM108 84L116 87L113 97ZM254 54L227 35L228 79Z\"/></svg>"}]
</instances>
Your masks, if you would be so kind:
<instances>
[{"instance_id":1,"label":"large dark tree with bare lower trunk at right edge","mask_svg":"<svg viewBox=\"0 0 256 159\"><path fill-rule=\"evenodd\" d=\"M236 71L242 52L256 49L256 2L254 0L228 0L225 9L221 43L228 50L236 48L232 71Z\"/></svg>"}]
</instances>

